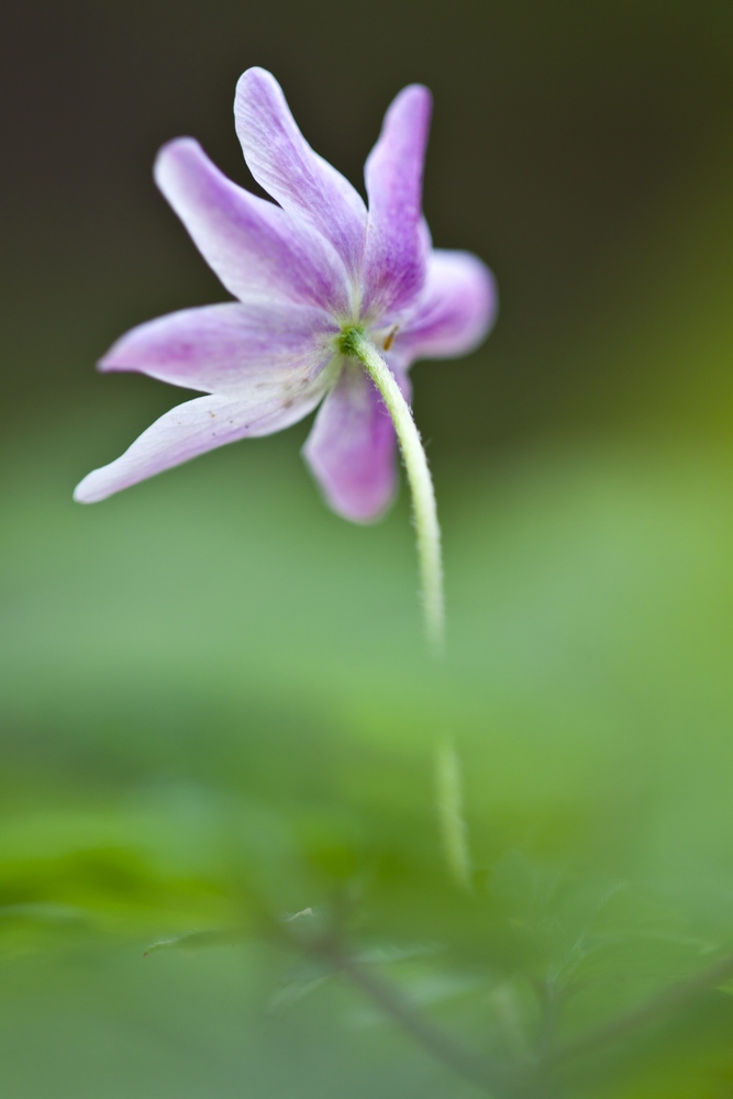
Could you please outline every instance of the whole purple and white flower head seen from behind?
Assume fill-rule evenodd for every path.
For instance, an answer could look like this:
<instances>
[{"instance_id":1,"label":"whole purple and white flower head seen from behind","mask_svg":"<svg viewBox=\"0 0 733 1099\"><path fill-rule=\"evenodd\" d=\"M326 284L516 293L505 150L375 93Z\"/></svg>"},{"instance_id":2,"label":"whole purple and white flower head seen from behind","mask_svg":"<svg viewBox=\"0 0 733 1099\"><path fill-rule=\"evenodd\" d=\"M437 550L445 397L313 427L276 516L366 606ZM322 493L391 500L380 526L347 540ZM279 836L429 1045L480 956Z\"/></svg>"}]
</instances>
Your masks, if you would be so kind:
<instances>
[{"instance_id":1,"label":"whole purple and white flower head seen from behind","mask_svg":"<svg viewBox=\"0 0 733 1099\"><path fill-rule=\"evenodd\" d=\"M215 446L269 435L321 404L303 455L327 502L356 522L384 512L397 484L395 429L344 334L357 331L382 352L409 400L411 364L470 351L496 312L488 268L431 246L421 212L430 112L419 85L389 108L366 163L368 210L308 145L260 68L238 81L236 132L278 204L226 179L190 137L163 147L157 185L236 300L141 324L110 348L102 370L208 396L166 412L85 477L76 500L102 500Z\"/></svg>"}]
</instances>

